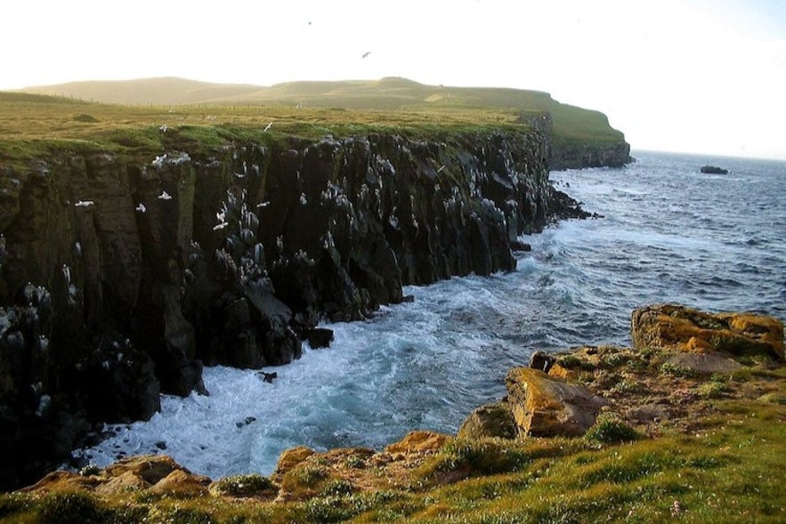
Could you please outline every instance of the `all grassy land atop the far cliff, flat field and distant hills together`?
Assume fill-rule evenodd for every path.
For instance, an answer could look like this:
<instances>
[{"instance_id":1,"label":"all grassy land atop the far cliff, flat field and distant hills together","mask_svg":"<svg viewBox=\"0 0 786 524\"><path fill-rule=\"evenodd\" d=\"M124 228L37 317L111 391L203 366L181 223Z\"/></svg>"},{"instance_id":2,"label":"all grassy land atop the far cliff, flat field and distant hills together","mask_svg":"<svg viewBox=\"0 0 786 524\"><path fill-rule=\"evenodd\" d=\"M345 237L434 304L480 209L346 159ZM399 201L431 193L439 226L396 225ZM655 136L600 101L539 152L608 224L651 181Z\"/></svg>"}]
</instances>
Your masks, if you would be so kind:
<instances>
[{"instance_id":1,"label":"all grassy land atop the far cliff, flat field and distant hills together","mask_svg":"<svg viewBox=\"0 0 786 524\"><path fill-rule=\"evenodd\" d=\"M604 114L559 103L537 91L423 85L405 78L271 87L152 78L0 93L0 141L81 140L111 148L123 147L125 140L153 146L160 125L185 127L186 133L199 127L207 139L213 135L213 140L226 140L271 122L272 133L308 137L393 127L422 132L435 127L523 125L546 112L553 118L555 143L624 140ZM117 133L131 137L126 140ZM0 155L9 157L9 146L2 147Z\"/></svg>"}]
</instances>

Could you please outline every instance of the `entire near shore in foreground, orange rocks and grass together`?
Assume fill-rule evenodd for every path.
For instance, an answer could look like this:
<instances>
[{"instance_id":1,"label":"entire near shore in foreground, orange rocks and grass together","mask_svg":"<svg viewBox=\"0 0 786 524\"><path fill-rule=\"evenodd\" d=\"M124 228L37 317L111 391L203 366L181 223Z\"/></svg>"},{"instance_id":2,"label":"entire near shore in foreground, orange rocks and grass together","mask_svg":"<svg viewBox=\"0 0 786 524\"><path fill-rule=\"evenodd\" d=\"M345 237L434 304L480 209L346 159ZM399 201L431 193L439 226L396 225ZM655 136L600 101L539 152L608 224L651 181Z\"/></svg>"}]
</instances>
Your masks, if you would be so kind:
<instances>
[{"instance_id":1,"label":"entire near shore in foreground, orange rocks and grass together","mask_svg":"<svg viewBox=\"0 0 786 524\"><path fill-rule=\"evenodd\" d=\"M210 480L190 474L166 457L134 457L104 470L52 473L19 494L2 496L0 504L15 501L17 510L10 514L36 514L49 511L55 500L62 504L81 497L79 511L115 516L121 510L135 516L172 515L179 507L187 509L192 518L201 515L211 521L231 515L264 516L271 521L339 521L362 514L397 515L392 520L427 521L429 516L442 515L440 520L460 517L474 521L487 512L500 519L523 514L542 518L556 507L555 498L563 496L566 505L559 511L565 515L584 508L587 515L615 517L612 520L638 515L647 521L685 513L703 521L715 514L753 516L746 513L749 508L764 504L759 506L764 511L759 515L777 519L780 512L786 512L786 504L779 506L778 497L772 498L777 482L772 482L770 467L773 460L782 461L782 457L772 455L778 439L767 439L774 437L772 431L782 431L778 421L786 420L782 321L750 314L708 314L669 304L636 310L633 318L634 347L585 347L537 355L531 367L508 375L510 396L506 401L514 406L512 419L500 419L498 414L479 419L476 412L456 437L414 431L382 451L344 448L315 453L296 447L280 456L279 467L270 478L239 475ZM536 367L547 367L548 374ZM522 393L516 383L529 385ZM547 385L550 383L557 384L557 390ZM575 404L569 409L570 416L563 418L560 413L570 403L559 407L554 400L546 404L538 400L539 394L545 392L548 398L567 384L604 400L594 408L595 420L579 433L570 429L582 419ZM578 397L571 393L567 399ZM527 407L533 402L545 411ZM484 413L488 415L490 410ZM533 414L548 418L549 413L555 415L549 419L551 423L563 424L563 429L554 431L551 423L528 419ZM632 422L631 414L639 417L637 422ZM758 421L757 425L734 422L749 417ZM516 431L513 438L500 434L509 429L510 420ZM751 435L758 439L755 455L746 451L747 447L729 447ZM705 444L718 441L726 447ZM666 443L668 447L664 447ZM738 455L745 456L747 462L745 472L738 472L743 477L735 481L762 479L764 475L758 495L728 491L736 482L727 484L724 479L731 470L739 471ZM650 465L642 469L641 461ZM593 464L608 465L598 470ZM570 484L555 477L564 474L560 472L566 467L573 472L565 479L578 475L589 487L612 491L597 499L594 508L585 505L581 494L586 488L580 487L553 492L541 503L532 504L531 497L543 496L541 485L570 489ZM629 472L620 470L628 467ZM533 472L538 473L533 477ZM677 473L693 478L689 481L698 483L695 489L707 491L671 483ZM529 480L521 484L521 479ZM519 488L515 488L517 483ZM474 487L492 485L497 486L496 495L475 494ZM636 486L654 490L642 492ZM715 496L701 498L709 490ZM638 495L614 495L623 492ZM476 503L457 506L456 496ZM532 502L516 506L502 503L511 496ZM726 502L740 505L734 509L715 504L724 497ZM780 500L786 502L782 497ZM401 501L408 501L408 510L401 512Z\"/></svg>"}]
</instances>

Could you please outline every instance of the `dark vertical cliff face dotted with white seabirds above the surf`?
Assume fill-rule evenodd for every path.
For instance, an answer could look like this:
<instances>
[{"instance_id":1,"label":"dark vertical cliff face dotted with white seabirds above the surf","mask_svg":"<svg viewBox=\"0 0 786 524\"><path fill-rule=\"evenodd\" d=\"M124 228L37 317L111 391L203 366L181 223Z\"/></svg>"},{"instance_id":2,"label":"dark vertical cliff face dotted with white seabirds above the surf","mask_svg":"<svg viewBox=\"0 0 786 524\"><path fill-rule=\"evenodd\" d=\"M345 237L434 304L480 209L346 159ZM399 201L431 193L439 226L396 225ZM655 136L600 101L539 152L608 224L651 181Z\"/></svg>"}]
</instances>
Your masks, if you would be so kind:
<instances>
[{"instance_id":1,"label":"dark vertical cliff face dotted with white seabirds above the surf","mask_svg":"<svg viewBox=\"0 0 786 524\"><path fill-rule=\"evenodd\" d=\"M59 150L0 191L5 487L98 421L204 391L202 362L285 364L320 318L515 267L547 222L538 133L288 139L139 162Z\"/></svg>"}]
</instances>

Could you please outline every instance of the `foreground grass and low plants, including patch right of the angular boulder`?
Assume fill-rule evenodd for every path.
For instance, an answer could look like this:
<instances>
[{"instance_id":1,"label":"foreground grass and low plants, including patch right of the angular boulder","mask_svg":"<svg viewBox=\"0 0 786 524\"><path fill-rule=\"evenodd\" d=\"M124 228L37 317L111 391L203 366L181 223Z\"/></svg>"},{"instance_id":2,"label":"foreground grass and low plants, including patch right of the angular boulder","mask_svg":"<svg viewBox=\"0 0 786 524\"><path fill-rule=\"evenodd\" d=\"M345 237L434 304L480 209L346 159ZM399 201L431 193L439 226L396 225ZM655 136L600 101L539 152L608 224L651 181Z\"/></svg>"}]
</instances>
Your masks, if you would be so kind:
<instances>
[{"instance_id":1,"label":"foreground grass and low plants, including patch right of the angular boulder","mask_svg":"<svg viewBox=\"0 0 786 524\"><path fill-rule=\"evenodd\" d=\"M602 346L557 359L611 401L583 437L432 433L377 452L301 452L270 478L230 477L191 496L35 489L0 496L0 521L782 522L786 367L765 358L698 375L674 373L668 358ZM668 415L630 415L651 405Z\"/></svg>"}]
</instances>

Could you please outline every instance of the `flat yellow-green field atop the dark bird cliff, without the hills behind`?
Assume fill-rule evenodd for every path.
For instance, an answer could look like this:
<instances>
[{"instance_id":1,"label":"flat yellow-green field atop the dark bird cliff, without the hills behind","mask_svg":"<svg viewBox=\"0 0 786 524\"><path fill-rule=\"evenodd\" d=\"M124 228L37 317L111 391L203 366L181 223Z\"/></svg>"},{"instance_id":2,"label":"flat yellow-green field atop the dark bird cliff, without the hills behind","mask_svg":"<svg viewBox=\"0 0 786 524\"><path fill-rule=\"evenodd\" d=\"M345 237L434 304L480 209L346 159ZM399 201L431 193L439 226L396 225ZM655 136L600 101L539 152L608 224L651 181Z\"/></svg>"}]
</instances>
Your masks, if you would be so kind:
<instances>
[{"instance_id":1,"label":"flat yellow-green field atop the dark bird cliff, without the hills behind","mask_svg":"<svg viewBox=\"0 0 786 524\"><path fill-rule=\"evenodd\" d=\"M264 129L270 125L268 131ZM119 105L0 93L0 163L24 170L53 149L108 149L150 157L164 149L209 149L231 141L269 143L394 130L441 136L490 128L523 130L503 109L336 109L294 106ZM166 129L166 131L164 131Z\"/></svg>"}]
</instances>

